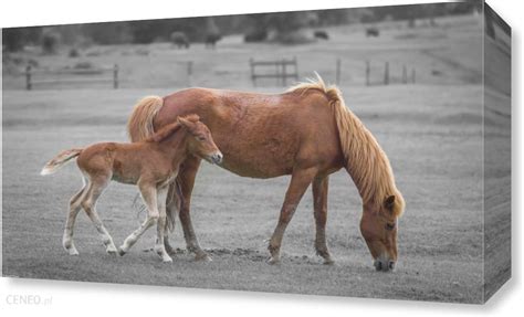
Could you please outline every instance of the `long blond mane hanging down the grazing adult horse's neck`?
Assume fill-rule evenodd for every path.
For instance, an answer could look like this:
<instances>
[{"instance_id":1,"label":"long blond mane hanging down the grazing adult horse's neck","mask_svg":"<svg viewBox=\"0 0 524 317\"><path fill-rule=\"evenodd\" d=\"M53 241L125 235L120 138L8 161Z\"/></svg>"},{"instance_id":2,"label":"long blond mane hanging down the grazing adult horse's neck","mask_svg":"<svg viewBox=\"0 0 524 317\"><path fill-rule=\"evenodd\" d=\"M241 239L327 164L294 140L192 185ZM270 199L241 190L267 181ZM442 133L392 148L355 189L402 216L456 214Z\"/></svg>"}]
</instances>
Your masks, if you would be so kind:
<instances>
[{"instance_id":1,"label":"long blond mane hanging down the grazing adult horse's neck","mask_svg":"<svg viewBox=\"0 0 524 317\"><path fill-rule=\"evenodd\" d=\"M392 212L400 216L405 201L395 184L388 157L360 119L346 107L340 91L335 85L327 86L322 77L315 74L316 80L300 83L287 89L287 93L305 94L312 89L324 93L335 115L346 170L352 176L363 202L373 203L377 210L382 210L385 200L395 196Z\"/></svg>"}]
</instances>

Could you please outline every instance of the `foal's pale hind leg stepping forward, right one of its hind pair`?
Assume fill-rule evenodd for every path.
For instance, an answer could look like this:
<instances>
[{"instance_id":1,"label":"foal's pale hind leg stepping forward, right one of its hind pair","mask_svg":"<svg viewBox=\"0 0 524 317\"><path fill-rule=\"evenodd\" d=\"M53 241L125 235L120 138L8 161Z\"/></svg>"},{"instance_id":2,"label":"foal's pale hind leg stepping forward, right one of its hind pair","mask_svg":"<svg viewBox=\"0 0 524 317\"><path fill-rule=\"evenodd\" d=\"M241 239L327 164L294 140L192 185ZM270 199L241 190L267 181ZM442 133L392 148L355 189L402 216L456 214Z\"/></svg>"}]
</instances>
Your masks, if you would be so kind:
<instances>
[{"instance_id":1,"label":"foal's pale hind leg stepping forward, right one of its hind pair","mask_svg":"<svg viewBox=\"0 0 524 317\"><path fill-rule=\"evenodd\" d=\"M96 231L98 231L102 242L106 247L106 252L109 254L116 254L117 251L115 243L113 242L113 237L111 237L109 232L104 226L102 220L98 216L98 213L96 212L96 201L98 200L109 181L109 176L97 176L92 178L90 180L90 184L87 186L86 193L82 199L82 207L84 208L85 212L95 225Z\"/></svg>"}]
</instances>

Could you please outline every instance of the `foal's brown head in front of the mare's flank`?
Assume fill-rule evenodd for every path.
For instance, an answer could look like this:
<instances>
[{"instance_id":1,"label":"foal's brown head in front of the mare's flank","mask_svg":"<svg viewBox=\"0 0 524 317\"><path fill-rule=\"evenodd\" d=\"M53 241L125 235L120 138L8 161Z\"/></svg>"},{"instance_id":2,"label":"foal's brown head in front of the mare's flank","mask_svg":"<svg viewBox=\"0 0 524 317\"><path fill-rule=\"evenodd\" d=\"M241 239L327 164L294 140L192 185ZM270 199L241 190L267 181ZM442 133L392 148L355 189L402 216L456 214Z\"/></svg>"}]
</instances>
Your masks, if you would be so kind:
<instances>
[{"instance_id":1,"label":"foal's brown head in front of the mare's flank","mask_svg":"<svg viewBox=\"0 0 524 317\"><path fill-rule=\"evenodd\" d=\"M221 163L222 152L211 137L209 128L200 121L197 115L178 117L180 126L188 131L188 151L210 163Z\"/></svg>"}]
</instances>

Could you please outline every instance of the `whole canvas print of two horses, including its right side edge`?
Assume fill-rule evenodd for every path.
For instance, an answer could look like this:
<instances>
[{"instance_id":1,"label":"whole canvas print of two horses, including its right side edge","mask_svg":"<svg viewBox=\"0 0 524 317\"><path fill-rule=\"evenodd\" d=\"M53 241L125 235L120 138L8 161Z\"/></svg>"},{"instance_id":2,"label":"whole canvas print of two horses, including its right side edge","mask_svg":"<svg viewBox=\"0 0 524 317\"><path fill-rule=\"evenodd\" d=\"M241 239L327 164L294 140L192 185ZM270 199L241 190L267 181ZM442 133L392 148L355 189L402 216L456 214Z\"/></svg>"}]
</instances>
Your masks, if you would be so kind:
<instances>
[{"instance_id":1,"label":"whole canvas print of two horses, including its right side edge","mask_svg":"<svg viewBox=\"0 0 524 317\"><path fill-rule=\"evenodd\" d=\"M511 29L483 1L2 30L2 274L484 303Z\"/></svg>"}]
</instances>

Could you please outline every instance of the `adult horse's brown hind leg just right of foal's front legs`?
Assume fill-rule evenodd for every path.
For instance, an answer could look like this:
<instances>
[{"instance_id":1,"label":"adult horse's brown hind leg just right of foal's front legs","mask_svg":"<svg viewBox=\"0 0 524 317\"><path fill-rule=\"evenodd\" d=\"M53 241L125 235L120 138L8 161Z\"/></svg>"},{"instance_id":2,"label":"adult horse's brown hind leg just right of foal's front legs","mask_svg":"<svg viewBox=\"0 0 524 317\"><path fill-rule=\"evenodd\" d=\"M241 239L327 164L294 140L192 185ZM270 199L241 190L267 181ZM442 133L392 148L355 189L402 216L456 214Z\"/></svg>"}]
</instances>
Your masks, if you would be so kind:
<instances>
[{"instance_id":1,"label":"adult horse's brown hind leg just right of foal's front legs","mask_svg":"<svg viewBox=\"0 0 524 317\"><path fill-rule=\"evenodd\" d=\"M180 169L177 181L180 183L181 191L181 207L180 207L180 224L184 230L184 237L186 239L187 250L195 253L196 261L211 261L211 257L200 247L197 235L191 223L190 204L191 193L195 186L195 178L200 166L200 159L190 157L184 161L184 166ZM177 186L176 183L171 186ZM178 189L175 189L178 190ZM168 205L168 212L172 212L177 207L171 203Z\"/></svg>"}]
</instances>

